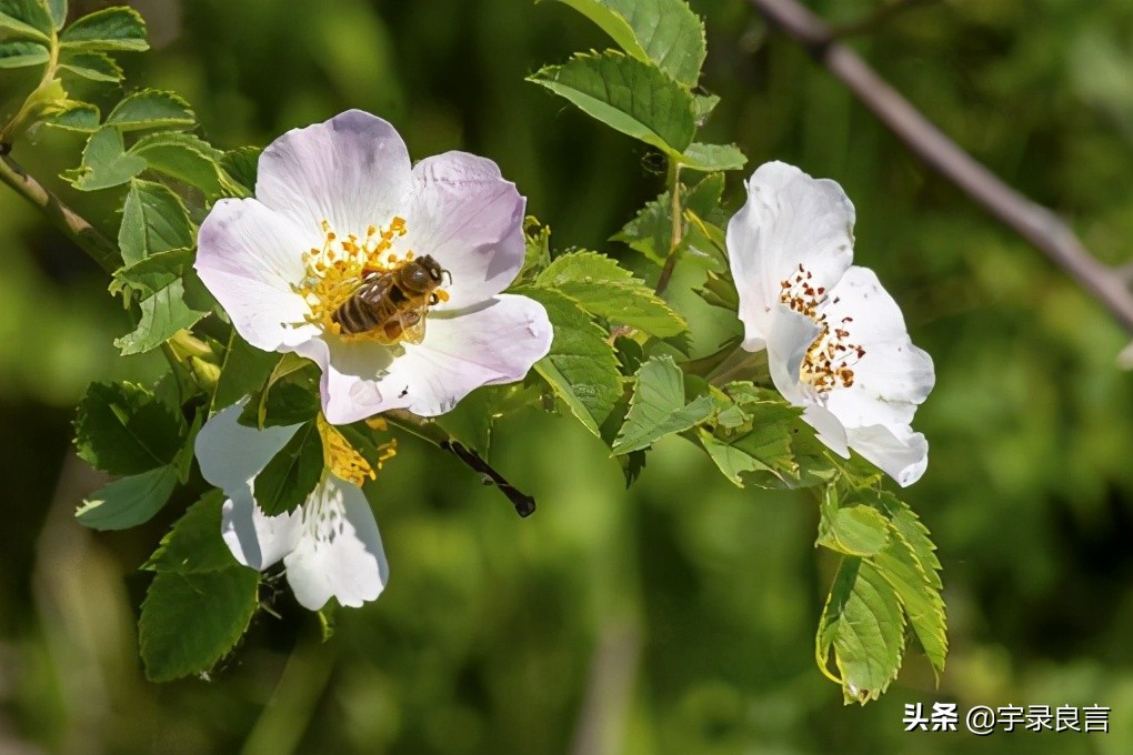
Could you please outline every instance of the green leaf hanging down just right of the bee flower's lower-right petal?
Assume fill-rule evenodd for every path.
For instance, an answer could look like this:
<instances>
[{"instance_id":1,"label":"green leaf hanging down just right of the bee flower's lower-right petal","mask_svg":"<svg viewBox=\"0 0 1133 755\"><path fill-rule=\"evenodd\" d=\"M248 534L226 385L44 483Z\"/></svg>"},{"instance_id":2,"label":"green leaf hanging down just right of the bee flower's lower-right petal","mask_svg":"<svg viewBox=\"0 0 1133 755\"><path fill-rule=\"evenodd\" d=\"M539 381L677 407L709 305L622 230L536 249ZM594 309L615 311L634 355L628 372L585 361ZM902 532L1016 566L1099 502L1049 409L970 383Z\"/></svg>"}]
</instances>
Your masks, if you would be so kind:
<instances>
[{"instance_id":1,"label":"green leaf hanging down just right of the bee flower's lower-right petal","mask_svg":"<svg viewBox=\"0 0 1133 755\"><path fill-rule=\"evenodd\" d=\"M586 429L600 438L599 427L622 395L617 359L606 332L557 291L523 286L516 293L540 302L554 328L551 352L535 363L535 370Z\"/></svg>"}]
</instances>

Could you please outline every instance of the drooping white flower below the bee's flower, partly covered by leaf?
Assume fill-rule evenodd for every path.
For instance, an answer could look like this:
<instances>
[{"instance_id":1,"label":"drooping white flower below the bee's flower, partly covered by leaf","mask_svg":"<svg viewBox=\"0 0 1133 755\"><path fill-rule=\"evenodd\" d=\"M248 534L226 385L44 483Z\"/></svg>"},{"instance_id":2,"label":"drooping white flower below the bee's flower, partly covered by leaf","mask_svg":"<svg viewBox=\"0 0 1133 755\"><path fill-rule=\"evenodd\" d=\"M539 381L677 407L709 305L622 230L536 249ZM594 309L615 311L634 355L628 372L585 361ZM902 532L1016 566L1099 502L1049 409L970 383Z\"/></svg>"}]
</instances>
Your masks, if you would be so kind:
<instances>
[{"instance_id":1,"label":"drooping white flower below the bee's flower, partly covered by leaf","mask_svg":"<svg viewBox=\"0 0 1133 755\"><path fill-rule=\"evenodd\" d=\"M237 419L246 401L214 414L195 445L201 473L228 496L221 534L229 550L261 572L282 559L296 599L310 610L331 598L353 608L375 600L390 567L374 513L358 487L363 477L373 477L370 467L321 423L329 469L299 508L265 515L253 499L252 481L301 426L245 427Z\"/></svg>"}]
</instances>

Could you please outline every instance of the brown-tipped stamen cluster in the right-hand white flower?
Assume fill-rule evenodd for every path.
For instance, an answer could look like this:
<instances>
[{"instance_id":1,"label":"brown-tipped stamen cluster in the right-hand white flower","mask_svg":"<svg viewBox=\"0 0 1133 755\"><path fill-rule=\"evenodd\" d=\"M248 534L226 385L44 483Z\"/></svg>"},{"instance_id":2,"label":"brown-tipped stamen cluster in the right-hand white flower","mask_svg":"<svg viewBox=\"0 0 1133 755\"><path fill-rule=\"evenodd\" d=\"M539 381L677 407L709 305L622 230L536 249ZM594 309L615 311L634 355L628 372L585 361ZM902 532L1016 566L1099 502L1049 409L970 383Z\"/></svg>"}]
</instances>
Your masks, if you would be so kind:
<instances>
[{"instance_id":1,"label":"brown-tipped stamen cluster in the right-hand white flower","mask_svg":"<svg viewBox=\"0 0 1133 755\"><path fill-rule=\"evenodd\" d=\"M798 272L780 283L780 301L821 327L802 359L799 379L823 395L853 385L853 366L866 355L866 350L850 340L847 326L853 323L852 317L843 317L836 327L830 327L821 311L828 299L826 289L812 285L812 278L811 272L799 265ZM833 303L837 302L835 298Z\"/></svg>"}]
</instances>

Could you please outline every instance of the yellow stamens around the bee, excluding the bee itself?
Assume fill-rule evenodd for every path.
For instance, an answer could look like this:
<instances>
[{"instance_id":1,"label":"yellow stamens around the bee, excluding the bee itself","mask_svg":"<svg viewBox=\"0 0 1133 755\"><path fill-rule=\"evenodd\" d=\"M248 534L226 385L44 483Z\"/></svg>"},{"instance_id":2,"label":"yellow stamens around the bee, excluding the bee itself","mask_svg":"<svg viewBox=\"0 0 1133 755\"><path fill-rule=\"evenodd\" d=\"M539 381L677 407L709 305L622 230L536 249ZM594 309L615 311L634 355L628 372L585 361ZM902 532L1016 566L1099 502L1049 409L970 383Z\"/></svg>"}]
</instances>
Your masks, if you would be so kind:
<instances>
[{"instance_id":1,"label":"yellow stamens around the bee, excluding the bee itself","mask_svg":"<svg viewBox=\"0 0 1133 755\"><path fill-rule=\"evenodd\" d=\"M341 334L332 319L334 311L358 290L370 273L397 269L412 260L412 250L404 255L392 251L394 241L406 234L406 220L394 217L387 229L370 225L365 238L350 233L340 238L329 221L323 221L323 247L312 247L303 255L307 275L296 291L307 300L307 321L324 331Z\"/></svg>"}]
</instances>

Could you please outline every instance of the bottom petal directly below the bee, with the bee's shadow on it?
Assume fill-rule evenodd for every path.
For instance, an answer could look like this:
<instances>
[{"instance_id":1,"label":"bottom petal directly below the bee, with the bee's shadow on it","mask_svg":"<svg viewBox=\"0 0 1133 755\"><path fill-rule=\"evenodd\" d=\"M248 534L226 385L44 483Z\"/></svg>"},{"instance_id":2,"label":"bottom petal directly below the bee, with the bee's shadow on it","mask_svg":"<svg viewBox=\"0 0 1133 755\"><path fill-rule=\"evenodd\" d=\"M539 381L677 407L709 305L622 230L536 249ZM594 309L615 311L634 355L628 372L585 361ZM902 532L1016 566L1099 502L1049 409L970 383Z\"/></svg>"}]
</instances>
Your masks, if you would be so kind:
<instances>
[{"instance_id":1,"label":"bottom petal directly below the bee, with the bee's shadow on it","mask_svg":"<svg viewBox=\"0 0 1133 755\"><path fill-rule=\"evenodd\" d=\"M296 352L323 370L320 395L331 424L349 424L391 409L409 405L408 386L393 368L393 350L367 340L333 335L313 338Z\"/></svg>"}]
</instances>

